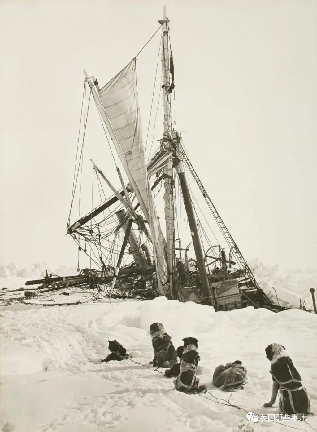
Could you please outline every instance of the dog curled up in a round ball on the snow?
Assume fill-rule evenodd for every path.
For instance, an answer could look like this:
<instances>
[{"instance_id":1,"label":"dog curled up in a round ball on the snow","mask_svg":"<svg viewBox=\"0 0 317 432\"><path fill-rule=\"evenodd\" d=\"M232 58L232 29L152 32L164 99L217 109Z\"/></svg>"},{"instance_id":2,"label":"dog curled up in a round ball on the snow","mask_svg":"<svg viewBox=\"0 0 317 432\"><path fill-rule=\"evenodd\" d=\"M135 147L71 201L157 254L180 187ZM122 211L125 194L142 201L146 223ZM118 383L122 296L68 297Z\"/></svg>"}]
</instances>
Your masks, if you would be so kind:
<instances>
[{"instance_id":1,"label":"dog curled up in a round ball on the snow","mask_svg":"<svg viewBox=\"0 0 317 432\"><path fill-rule=\"evenodd\" d=\"M242 388L247 378L247 369L242 366L240 360L219 365L213 372L213 384L223 391L232 391Z\"/></svg>"}]
</instances>

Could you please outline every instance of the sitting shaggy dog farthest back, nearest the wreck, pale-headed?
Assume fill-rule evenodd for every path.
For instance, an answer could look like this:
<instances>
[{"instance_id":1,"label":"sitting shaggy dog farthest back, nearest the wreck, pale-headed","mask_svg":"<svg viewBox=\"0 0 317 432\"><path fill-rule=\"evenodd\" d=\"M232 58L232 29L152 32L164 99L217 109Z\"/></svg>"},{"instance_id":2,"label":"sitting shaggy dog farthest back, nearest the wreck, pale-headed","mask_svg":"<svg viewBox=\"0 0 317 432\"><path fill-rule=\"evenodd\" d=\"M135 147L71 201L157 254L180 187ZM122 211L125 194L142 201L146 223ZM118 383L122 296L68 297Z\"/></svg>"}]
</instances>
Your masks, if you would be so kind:
<instances>
[{"instance_id":1,"label":"sitting shaggy dog farthest back, nearest the wreck, pale-headed","mask_svg":"<svg viewBox=\"0 0 317 432\"><path fill-rule=\"evenodd\" d=\"M177 363L177 354L171 337L164 330L163 324L153 323L150 335L154 351L153 366L156 368L170 368Z\"/></svg>"}]
</instances>

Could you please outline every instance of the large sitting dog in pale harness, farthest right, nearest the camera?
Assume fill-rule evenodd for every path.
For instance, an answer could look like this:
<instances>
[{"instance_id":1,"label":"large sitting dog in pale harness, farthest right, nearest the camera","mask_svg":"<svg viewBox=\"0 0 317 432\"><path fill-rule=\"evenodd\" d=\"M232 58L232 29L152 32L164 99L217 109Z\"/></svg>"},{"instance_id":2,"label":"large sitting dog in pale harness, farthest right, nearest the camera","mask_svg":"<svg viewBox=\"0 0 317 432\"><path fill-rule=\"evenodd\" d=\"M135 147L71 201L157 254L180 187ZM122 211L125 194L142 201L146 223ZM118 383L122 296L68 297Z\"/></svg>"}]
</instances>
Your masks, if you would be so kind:
<instances>
[{"instance_id":1,"label":"large sitting dog in pale harness, farthest right, nearest the camera","mask_svg":"<svg viewBox=\"0 0 317 432\"><path fill-rule=\"evenodd\" d=\"M285 354L285 347L271 343L265 348L271 362L270 374L273 378L272 397L264 407L272 407L279 391L279 408L283 414L310 414L310 403L306 389L301 384L301 375Z\"/></svg>"}]
</instances>

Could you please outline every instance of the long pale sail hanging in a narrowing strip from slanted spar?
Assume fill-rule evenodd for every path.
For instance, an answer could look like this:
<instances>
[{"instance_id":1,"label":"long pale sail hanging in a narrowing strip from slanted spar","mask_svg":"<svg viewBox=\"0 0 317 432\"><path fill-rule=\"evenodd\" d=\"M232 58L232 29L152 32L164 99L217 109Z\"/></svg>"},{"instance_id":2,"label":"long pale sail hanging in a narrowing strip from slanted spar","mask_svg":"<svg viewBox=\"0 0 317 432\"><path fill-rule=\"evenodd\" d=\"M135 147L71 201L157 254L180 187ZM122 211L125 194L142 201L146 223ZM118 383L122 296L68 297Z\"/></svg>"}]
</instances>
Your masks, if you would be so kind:
<instances>
[{"instance_id":1,"label":"long pale sail hanging in a narrowing strip from slanted spar","mask_svg":"<svg viewBox=\"0 0 317 432\"><path fill-rule=\"evenodd\" d=\"M127 162L124 166L126 174L150 226L158 286L164 294L166 289L163 287L168 280L166 241L160 228L144 157L135 59L98 90L98 95Z\"/></svg>"}]
</instances>

